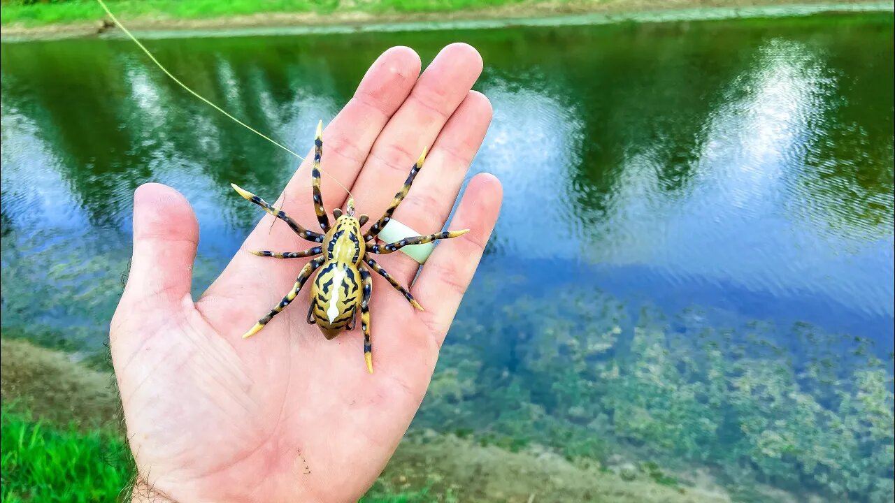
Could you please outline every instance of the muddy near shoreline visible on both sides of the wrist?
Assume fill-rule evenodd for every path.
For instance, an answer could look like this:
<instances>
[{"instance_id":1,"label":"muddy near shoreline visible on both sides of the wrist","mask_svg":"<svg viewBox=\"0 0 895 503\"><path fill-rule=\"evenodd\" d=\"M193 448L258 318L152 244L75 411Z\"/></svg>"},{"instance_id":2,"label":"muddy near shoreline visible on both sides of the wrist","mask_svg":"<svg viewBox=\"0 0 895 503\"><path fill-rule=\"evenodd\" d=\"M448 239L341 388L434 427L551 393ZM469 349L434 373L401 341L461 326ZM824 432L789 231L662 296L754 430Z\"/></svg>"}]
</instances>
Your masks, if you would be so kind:
<instances>
[{"instance_id":1,"label":"muddy near shoreline visible on both sides of the wrist","mask_svg":"<svg viewBox=\"0 0 895 503\"><path fill-rule=\"evenodd\" d=\"M73 361L72 354L34 345L21 338L0 337L0 349L3 354L0 358L3 362L0 395L4 402L4 420L8 419L6 413L15 415L18 422L28 423L35 436L48 435L57 439L66 434L72 452L90 453L77 460L82 465L97 463L95 457L90 457L93 453L89 449L95 445L91 438L105 435L104 443L118 441L122 446L126 445L123 413L111 362L106 362L102 370L90 368ZM36 429L38 424L40 428ZM4 439L12 435L5 431L10 426L4 422ZM49 440L45 440L47 445ZM55 448L59 447L58 442L56 440ZM30 461L43 461L46 456L36 455L34 450L25 452L17 446L11 450L22 458L30 456ZM558 503L584 500L600 491L609 491L613 501L618 503L730 501L728 492L713 481L705 480L703 472L691 474L686 482L657 480L660 479L657 474L665 476L656 472L658 468L636 464L633 459L620 456L618 459L616 465L575 464L546 448L512 451L451 433L408 431L385 470L361 501L385 503L401 496L424 494L444 498L459 496L463 500L474 499L482 503L525 503L536 495L539 502ZM131 463L128 453L116 456L115 461L119 463L113 466L115 470L130 472L131 467L126 465ZM4 461L4 473L8 469L6 463ZM55 475L54 480L64 476L55 467L48 470ZM438 476L433 477L432 473L438 473ZM528 476L520 482L516 480L517 473L528 473ZM27 472L16 474L20 487L22 482L35 482L26 480L30 476ZM128 477L129 474L125 478ZM52 485L46 480L40 482Z\"/></svg>"}]
</instances>

